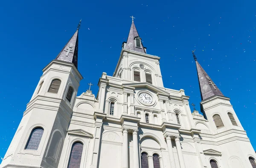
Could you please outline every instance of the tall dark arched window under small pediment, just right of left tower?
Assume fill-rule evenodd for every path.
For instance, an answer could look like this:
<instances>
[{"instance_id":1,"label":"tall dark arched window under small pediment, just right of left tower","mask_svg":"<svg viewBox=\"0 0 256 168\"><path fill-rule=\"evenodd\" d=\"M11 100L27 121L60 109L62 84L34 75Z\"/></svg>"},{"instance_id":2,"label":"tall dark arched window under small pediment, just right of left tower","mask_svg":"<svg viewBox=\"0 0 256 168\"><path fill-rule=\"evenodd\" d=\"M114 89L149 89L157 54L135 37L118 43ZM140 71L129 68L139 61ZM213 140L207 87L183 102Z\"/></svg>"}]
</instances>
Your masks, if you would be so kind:
<instances>
[{"instance_id":1,"label":"tall dark arched window under small pediment, just right of left tower","mask_svg":"<svg viewBox=\"0 0 256 168\"><path fill-rule=\"evenodd\" d=\"M82 143L76 142L73 144L70 152L70 159L69 159L67 168L80 168L82 151L83 151Z\"/></svg>"}]
</instances>

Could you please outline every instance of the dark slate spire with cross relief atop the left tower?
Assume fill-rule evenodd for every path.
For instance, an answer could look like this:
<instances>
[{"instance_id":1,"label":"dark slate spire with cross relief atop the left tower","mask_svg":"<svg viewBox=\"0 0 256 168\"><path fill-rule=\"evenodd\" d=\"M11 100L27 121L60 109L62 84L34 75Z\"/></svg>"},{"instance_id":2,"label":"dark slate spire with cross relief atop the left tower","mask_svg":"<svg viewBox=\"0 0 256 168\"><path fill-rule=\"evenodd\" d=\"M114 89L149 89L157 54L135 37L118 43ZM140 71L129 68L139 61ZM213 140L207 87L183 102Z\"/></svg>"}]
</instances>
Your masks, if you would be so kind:
<instances>
[{"instance_id":1,"label":"dark slate spire with cross relief atop the left tower","mask_svg":"<svg viewBox=\"0 0 256 168\"><path fill-rule=\"evenodd\" d=\"M57 60L73 63L76 68L78 63L78 30L56 57Z\"/></svg>"}]
</instances>

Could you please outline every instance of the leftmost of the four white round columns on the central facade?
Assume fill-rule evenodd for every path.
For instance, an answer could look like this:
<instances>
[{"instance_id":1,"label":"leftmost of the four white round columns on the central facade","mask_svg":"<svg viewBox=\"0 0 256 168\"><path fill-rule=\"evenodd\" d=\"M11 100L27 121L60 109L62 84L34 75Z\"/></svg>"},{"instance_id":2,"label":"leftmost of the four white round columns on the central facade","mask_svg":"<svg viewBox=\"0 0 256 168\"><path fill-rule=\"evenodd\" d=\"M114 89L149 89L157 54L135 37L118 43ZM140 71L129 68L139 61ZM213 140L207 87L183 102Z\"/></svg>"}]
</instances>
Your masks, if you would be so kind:
<instances>
[{"instance_id":1,"label":"leftmost of the four white round columns on the central facade","mask_svg":"<svg viewBox=\"0 0 256 168\"><path fill-rule=\"evenodd\" d=\"M128 168L128 129L123 130L122 168Z\"/></svg>"}]
</instances>

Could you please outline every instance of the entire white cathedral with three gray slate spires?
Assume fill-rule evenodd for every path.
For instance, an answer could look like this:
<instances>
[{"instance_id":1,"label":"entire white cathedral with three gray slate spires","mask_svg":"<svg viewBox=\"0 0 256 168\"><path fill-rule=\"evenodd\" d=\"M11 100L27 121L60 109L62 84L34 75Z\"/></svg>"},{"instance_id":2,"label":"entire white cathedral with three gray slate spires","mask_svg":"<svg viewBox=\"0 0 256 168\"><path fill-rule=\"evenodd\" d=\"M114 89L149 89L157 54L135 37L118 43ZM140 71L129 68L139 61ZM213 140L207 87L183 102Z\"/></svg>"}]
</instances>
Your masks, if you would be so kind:
<instances>
[{"instance_id":1,"label":"entire white cathedral with three gray slate spires","mask_svg":"<svg viewBox=\"0 0 256 168\"><path fill-rule=\"evenodd\" d=\"M134 21L113 76L102 73L96 96L77 95L78 35L44 67L0 168L256 168L230 98L194 53L203 115L163 86Z\"/></svg>"}]
</instances>

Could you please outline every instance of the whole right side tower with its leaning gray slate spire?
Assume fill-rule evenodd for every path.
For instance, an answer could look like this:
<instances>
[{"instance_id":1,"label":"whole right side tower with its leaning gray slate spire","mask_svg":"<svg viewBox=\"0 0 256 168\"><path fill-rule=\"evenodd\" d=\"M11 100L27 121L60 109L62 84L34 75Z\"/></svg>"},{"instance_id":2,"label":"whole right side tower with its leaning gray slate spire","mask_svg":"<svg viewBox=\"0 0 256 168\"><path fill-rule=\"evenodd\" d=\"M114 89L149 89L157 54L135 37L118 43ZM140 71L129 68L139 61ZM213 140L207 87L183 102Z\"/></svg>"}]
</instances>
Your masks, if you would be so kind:
<instances>
[{"instance_id":1,"label":"whole right side tower with its leaning gray slate spire","mask_svg":"<svg viewBox=\"0 0 256 168\"><path fill-rule=\"evenodd\" d=\"M201 144L208 167L251 168L255 160L253 147L244 131L236 112L227 98L218 89L209 75L195 59L201 92L201 112L206 119L206 128L201 131ZM215 168L214 167L214 168Z\"/></svg>"}]
</instances>

